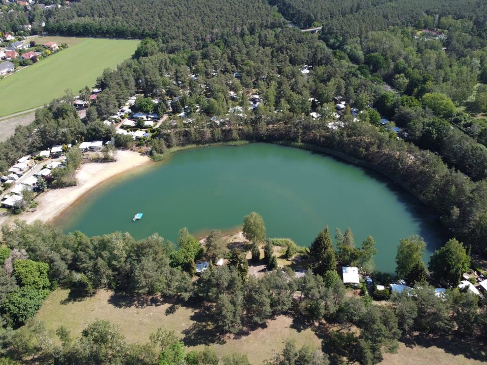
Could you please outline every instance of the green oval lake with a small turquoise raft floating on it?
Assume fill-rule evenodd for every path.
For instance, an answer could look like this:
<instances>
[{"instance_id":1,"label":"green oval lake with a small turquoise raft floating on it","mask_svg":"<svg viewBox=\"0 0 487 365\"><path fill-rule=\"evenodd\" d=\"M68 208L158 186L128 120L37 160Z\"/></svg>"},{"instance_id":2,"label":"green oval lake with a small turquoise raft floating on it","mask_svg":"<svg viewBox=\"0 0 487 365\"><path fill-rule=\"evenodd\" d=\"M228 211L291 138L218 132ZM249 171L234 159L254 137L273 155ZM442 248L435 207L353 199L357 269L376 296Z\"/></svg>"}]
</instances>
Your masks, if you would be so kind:
<instances>
[{"instance_id":1,"label":"green oval lake with a small turquoise raft floating on it","mask_svg":"<svg viewBox=\"0 0 487 365\"><path fill-rule=\"evenodd\" d=\"M176 241L188 227L199 236L236 229L259 212L267 237L309 246L325 226L351 227L357 246L371 235L377 270L395 270L401 238L417 234L428 244L425 261L444 243L424 206L380 175L333 157L255 143L178 152L140 173L108 181L63 214L66 232L101 235L154 232ZM142 212L142 220L132 222Z\"/></svg>"}]
</instances>

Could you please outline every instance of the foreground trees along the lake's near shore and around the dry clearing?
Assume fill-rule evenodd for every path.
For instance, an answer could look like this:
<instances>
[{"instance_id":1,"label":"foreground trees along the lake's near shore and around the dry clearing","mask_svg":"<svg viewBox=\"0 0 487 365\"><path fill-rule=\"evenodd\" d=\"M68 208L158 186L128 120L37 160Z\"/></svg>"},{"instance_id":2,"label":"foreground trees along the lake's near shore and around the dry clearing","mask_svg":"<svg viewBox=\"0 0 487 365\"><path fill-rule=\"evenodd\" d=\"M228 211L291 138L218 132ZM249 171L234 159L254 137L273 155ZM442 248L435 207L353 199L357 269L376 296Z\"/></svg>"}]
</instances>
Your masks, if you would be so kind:
<instances>
[{"instance_id":1,"label":"foreground trees along the lake's near shore and around the dry clearing","mask_svg":"<svg viewBox=\"0 0 487 365\"><path fill-rule=\"evenodd\" d=\"M103 320L88 324L78 338L73 338L62 324L54 335L33 316L50 290L59 285L71 289L73 300L110 288L132 296L155 296L155 300L172 301L175 306L197 308L200 323L187 332L186 340L198 338L201 331L204 338L213 341L227 334L252 332L281 314L295 317L304 323L301 325L315 326L323 338L322 350L303 347L298 351L288 343L285 349L293 351L285 350L267 362L275 365L289 361L314 365L329 361L373 364L382 360L384 352L394 351L398 340L422 336L482 340L487 334L486 307L477 296L456 287L446 290L444 296L437 296L427 284L421 261L426 244L418 236L401 240L396 256L396 273L414 285L412 293L390 295L388 290L375 290L371 295L362 283L358 287L360 295L349 296L345 295L348 289L336 272L337 265L373 268L376 250L372 237L356 247L350 228L344 234L337 229L336 251L328 227L318 233L304 252L298 252L295 244L287 240L288 259L298 255L300 265L304 260L308 267L304 275L296 276L290 268L276 267L273 242L280 240L266 239L265 225L258 213L244 218L243 234L250 241L244 250L252 251L251 262L261 260L256 247L264 247L263 261L268 272L260 278L248 275L245 254L238 248L229 250L219 231L210 232L201 245L183 228L176 249L157 234L136 241L128 233L120 232L95 237L81 232L64 234L40 222L26 225L17 221L14 227L4 226L0 250L5 261L0 269L2 351L14 359L36 355L55 364L219 363L210 348L185 354L184 339L169 330L158 330L147 344L130 345L124 342L116 326ZM451 261L452 266L443 272L438 263L452 254L458 260ZM227 258L228 265L211 265L197 280L191 279L196 261L207 258L213 263L219 257ZM450 282L455 283L468 265L468 254L462 244L449 240L444 249L433 255L429 269L439 275L449 273ZM374 275L377 282L387 284L391 280L388 274ZM389 302L374 305L373 299ZM14 330L19 324L25 325ZM352 331L352 326L360 332ZM55 344L54 336L61 345ZM249 364L245 354L234 356L239 358L236 363ZM298 358L302 362L295 362ZM235 364L231 358L223 358L221 363Z\"/></svg>"}]
</instances>

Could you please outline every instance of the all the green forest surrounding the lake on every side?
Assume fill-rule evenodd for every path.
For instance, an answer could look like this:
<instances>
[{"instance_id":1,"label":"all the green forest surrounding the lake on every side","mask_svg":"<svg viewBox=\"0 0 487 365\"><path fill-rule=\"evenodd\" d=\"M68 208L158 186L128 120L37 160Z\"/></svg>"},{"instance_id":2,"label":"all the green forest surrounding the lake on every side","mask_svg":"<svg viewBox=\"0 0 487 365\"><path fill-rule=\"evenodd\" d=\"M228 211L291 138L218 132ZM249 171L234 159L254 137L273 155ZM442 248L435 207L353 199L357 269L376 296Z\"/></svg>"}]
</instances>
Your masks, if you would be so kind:
<instances>
[{"instance_id":1,"label":"all the green forest surrounding the lake on every side","mask_svg":"<svg viewBox=\"0 0 487 365\"><path fill-rule=\"evenodd\" d=\"M9 14L9 26L23 22ZM298 253L309 268L301 278L274 270L270 241L248 232L253 244L246 248L255 254L255 244L264 246L269 269L255 279L247 276L242 252L222 246L219 232L203 247L183 229L176 248L157 235L139 241L122 233L87 237L16 223L3 228L0 248L2 351L15 359L41 354L55 364L248 363L245 355L218 359L209 349L184 354L183 343L162 330L147 344L127 345L104 321L88 324L76 339L59 327L61 345L53 345L55 337L33 316L58 286L81 297L110 288L191 303L216 337L258 328L280 313L306 325L318 323L326 339L322 351L286 344L269 364L372 364L384 351L394 351L398 340L418 336L484 341L484 301L458 288L440 298L425 279L431 275L430 281L444 279L455 287L469 269L470 253L487 254L486 16L485 2L473 0L82 0L47 14L49 33L143 40L132 59L97 79L102 91L86 117L79 118L73 100L75 94L89 96L89 88L66 90L38 109L31 125L19 126L0 143L1 171L26 154L83 140L113 138L117 148L135 146L155 160L189 144L280 143L331 153L384 174L428 206L450 239L427 267L421 261L424 241L401 240L396 274L414 286L412 295L373 293L372 298L362 284L359 296L345 296L336 268L368 267L373 239L359 248L351 233L337 232L335 251L328 228L308 252ZM318 36L302 33L284 19L323 29ZM138 141L102 122L135 94L134 109L168 115L149 138ZM346 104L341 115L337 100ZM182 112L185 118L179 117ZM383 125L385 118L390 122ZM408 249L414 254L400 255ZM228 266L192 281L195 261L222 254ZM372 299L389 302L378 306Z\"/></svg>"}]
</instances>

